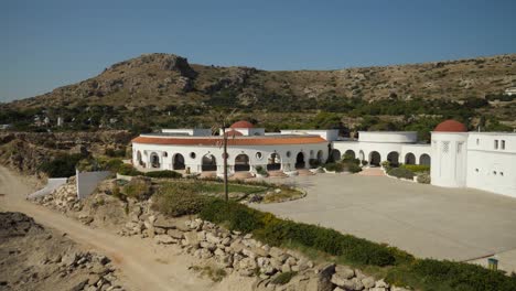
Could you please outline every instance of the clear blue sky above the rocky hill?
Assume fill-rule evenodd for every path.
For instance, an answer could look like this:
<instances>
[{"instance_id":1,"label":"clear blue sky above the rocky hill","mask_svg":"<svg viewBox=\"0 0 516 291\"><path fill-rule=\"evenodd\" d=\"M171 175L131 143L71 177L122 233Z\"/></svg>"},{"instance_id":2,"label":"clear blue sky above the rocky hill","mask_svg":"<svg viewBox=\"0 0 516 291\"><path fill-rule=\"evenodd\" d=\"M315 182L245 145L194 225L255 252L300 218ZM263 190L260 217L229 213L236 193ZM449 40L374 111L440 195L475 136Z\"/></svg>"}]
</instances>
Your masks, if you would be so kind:
<instances>
[{"instance_id":1,"label":"clear blue sky above the rocky hill","mask_svg":"<svg viewBox=\"0 0 516 291\"><path fill-rule=\"evenodd\" d=\"M142 53L262 69L516 53L516 0L0 1L0 101Z\"/></svg>"}]
</instances>

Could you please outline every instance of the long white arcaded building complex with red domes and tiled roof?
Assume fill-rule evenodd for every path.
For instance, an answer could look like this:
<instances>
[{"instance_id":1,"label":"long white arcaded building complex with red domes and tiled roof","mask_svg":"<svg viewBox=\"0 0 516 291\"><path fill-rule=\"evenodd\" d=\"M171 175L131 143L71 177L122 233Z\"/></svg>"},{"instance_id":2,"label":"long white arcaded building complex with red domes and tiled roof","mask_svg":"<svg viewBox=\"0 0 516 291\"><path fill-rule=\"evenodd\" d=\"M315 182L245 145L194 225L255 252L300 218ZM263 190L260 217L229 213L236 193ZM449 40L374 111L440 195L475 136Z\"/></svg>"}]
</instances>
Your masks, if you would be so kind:
<instances>
[{"instance_id":1,"label":"long white arcaded building complex with red domes and tiled roof","mask_svg":"<svg viewBox=\"0 0 516 291\"><path fill-rule=\"evenodd\" d=\"M343 154L378 166L430 165L431 183L474 187L516 197L516 133L467 132L454 120L432 131L430 144L418 143L415 131L361 131L358 139L342 139L337 130L281 130L265 133L247 121L232 125L228 172L252 176L257 166L271 175L309 173L310 165L338 160ZM132 140L132 162L149 170L185 170L203 175L223 173L222 137L209 129L165 129ZM329 159L330 158L330 159Z\"/></svg>"}]
</instances>

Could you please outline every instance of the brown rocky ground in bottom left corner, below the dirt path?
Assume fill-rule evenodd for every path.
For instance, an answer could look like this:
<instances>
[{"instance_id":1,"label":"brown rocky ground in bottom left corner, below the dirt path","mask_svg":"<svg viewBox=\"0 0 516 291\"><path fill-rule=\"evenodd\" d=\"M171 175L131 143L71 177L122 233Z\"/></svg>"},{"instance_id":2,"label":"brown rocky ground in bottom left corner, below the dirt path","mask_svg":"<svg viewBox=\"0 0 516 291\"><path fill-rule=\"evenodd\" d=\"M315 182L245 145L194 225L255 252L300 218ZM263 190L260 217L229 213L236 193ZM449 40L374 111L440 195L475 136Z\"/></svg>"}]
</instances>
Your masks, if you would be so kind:
<instances>
[{"instance_id":1,"label":"brown rocky ground in bottom left corner, below the dirt path","mask_svg":"<svg viewBox=\"0 0 516 291\"><path fill-rule=\"evenodd\" d=\"M0 213L0 290L126 290L109 258L21 213Z\"/></svg>"}]
</instances>

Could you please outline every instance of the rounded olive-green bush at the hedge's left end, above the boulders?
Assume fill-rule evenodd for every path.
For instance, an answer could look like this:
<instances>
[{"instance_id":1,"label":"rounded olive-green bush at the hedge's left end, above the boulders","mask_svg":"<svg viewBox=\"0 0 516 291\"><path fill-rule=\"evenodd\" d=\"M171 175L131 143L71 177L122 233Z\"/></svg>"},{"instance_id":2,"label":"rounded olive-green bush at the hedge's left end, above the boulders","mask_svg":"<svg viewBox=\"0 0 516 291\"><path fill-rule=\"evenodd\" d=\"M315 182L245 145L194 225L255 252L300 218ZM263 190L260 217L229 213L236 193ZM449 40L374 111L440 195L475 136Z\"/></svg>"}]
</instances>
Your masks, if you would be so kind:
<instances>
[{"instance_id":1,"label":"rounded olive-green bush at the hedge's left end, above the boulders","mask_svg":"<svg viewBox=\"0 0 516 291\"><path fill-rule=\"evenodd\" d=\"M201 212L209 200L198 194L194 183L166 183L153 196L152 208L176 217Z\"/></svg>"}]
</instances>

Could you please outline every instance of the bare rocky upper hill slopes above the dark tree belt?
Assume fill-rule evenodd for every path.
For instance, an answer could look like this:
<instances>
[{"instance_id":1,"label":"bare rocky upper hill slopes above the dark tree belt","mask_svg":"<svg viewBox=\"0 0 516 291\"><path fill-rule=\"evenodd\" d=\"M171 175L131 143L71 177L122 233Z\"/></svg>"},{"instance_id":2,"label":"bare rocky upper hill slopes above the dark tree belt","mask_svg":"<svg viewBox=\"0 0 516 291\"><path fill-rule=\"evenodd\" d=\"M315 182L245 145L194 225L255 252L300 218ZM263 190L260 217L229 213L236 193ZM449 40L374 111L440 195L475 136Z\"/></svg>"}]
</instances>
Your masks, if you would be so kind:
<instances>
[{"instance_id":1,"label":"bare rocky upper hill slopes above the dark tree belt","mask_svg":"<svg viewBox=\"0 0 516 291\"><path fill-rule=\"evenodd\" d=\"M268 72L189 64L173 54L144 54L78 84L13 101L9 108L110 105L264 107L281 103L484 98L516 86L516 54L336 71Z\"/></svg>"}]
</instances>

